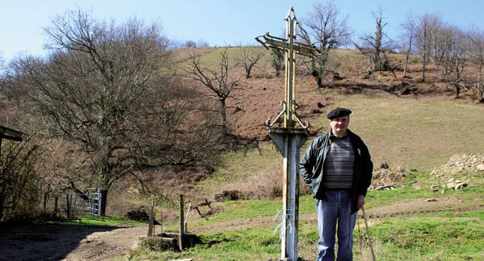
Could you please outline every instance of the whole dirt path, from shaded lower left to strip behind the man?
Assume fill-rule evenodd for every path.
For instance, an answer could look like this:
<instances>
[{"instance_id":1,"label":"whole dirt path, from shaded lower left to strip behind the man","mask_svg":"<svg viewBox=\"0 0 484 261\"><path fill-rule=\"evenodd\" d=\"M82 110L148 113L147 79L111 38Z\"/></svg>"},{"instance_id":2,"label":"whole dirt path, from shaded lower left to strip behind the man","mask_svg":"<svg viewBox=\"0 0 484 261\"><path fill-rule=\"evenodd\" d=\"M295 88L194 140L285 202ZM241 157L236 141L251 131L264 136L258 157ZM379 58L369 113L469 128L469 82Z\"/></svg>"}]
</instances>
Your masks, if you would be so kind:
<instances>
[{"instance_id":1,"label":"whole dirt path, from shaded lower left to strip behind the man","mask_svg":"<svg viewBox=\"0 0 484 261\"><path fill-rule=\"evenodd\" d=\"M464 203L467 203L464 205ZM449 196L427 202L424 198L394 202L367 210L370 224L408 214L442 211L483 210L481 200L463 202ZM300 224L316 223L315 213L301 214ZM220 221L199 226L191 232L216 233L266 226L278 221L274 216ZM146 226L78 226L62 224L6 224L0 227L2 260L115 260L122 259L135 247L138 236L145 236Z\"/></svg>"}]
</instances>

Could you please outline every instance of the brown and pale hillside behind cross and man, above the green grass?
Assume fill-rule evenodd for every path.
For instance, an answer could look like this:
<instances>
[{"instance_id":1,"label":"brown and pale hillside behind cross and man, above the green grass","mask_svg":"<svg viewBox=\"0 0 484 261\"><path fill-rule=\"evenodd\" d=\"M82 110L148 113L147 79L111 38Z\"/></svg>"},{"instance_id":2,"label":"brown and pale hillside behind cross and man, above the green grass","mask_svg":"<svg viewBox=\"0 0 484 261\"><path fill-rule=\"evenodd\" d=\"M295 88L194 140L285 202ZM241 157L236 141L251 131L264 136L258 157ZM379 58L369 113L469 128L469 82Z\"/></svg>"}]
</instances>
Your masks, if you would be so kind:
<instances>
[{"instance_id":1,"label":"brown and pale hillside behind cross and man, above the green grass","mask_svg":"<svg viewBox=\"0 0 484 261\"><path fill-rule=\"evenodd\" d=\"M176 73L183 73L179 68L187 66L190 54L199 55L204 65L217 69L220 51L223 48L176 50ZM228 49L231 65L237 62L239 51L237 47ZM405 79L401 78L402 71L399 70L405 58L403 54L389 56L391 63L396 66L397 78L390 72L382 72L370 79L363 79L367 63L365 57L356 51L336 50L332 57L330 65L342 79L334 80L329 74L324 82L329 87L320 90L316 89L316 82L307 73L302 60L298 61L298 114L311 123L312 137L309 140L327 130L327 111L340 106L353 110L350 129L367 143L374 166L386 161L395 168L400 166L401 169L431 171L454 154L482 152L484 140L480 137L484 133L480 126L484 123L483 104L474 102L471 90L463 90L461 99L454 99L454 90L440 76L437 64L428 65L427 83L420 83L418 56L411 57L409 77ZM472 79L474 69L471 67L466 71L468 80ZM185 191L201 199L219 192L215 188L230 187L232 181L243 182L247 176L277 171L279 155L268 140L264 122L274 118L281 110L283 73L276 77L271 68L269 52L266 51L252 70L252 77L246 79L243 75L240 66L230 71L229 76L239 81L233 93L235 99L228 99L228 129L229 133L240 137L232 149L244 154L238 151L221 154L221 165L216 167L213 174L199 169L184 170L182 176L185 178L182 179L177 175L156 175L158 178L153 180L155 184L169 183L172 193ZM193 83L193 86L202 94L209 94L199 83ZM0 107L3 112L1 124L6 124L8 116L10 119L21 118L15 116L15 102L1 97ZM471 135L456 139L463 133ZM220 176L227 182L220 184ZM203 182L197 185L200 180ZM117 187L122 192L126 185Z\"/></svg>"}]
</instances>

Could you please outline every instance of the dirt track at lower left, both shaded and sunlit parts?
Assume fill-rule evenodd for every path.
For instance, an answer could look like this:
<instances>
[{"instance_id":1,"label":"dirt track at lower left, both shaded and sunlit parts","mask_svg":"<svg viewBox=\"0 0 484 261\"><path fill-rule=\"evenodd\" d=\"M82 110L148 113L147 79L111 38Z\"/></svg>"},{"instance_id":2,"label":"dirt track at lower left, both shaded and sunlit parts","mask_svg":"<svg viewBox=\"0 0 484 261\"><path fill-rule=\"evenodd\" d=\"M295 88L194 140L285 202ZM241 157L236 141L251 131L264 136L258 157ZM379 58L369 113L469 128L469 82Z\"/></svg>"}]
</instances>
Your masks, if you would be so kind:
<instances>
[{"instance_id":1,"label":"dirt track at lower left, both shaded and sunlit parts","mask_svg":"<svg viewBox=\"0 0 484 261\"><path fill-rule=\"evenodd\" d=\"M0 260L112 260L146 233L146 226L6 224L0 227Z\"/></svg>"}]
</instances>

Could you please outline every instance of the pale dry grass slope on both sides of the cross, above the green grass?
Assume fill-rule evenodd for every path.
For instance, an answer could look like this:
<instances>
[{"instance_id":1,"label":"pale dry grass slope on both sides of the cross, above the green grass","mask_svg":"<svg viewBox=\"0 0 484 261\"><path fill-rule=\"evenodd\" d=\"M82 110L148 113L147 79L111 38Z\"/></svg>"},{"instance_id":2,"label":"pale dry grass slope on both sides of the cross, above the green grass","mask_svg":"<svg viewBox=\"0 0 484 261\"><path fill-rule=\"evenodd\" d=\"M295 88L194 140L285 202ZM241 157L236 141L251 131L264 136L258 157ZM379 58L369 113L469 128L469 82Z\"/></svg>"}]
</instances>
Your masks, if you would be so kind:
<instances>
[{"instance_id":1,"label":"pale dry grass slope on both sides of the cross, above the green grass","mask_svg":"<svg viewBox=\"0 0 484 261\"><path fill-rule=\"evenodd\" d=\"M337 94L333 91L322 94L323 97L334 95ZM438 99L398 98L382 91L338 95L335 99L333 107L353 110L350 129L367 143L374 166L386 161L393 167L430 171L447 162L453 154L483 152L484 107ZM328 126L325 115L311 123ZM457 138L463 133L470 135ZM263 143L261 151L262 155L256 150L249 150L247 155L242 151L223 155L223 166L212 178L200 183L199 188L213 193L223 183L240 181L281 164L280 154L270 143Z\"/></svg>"}]
</instances>

